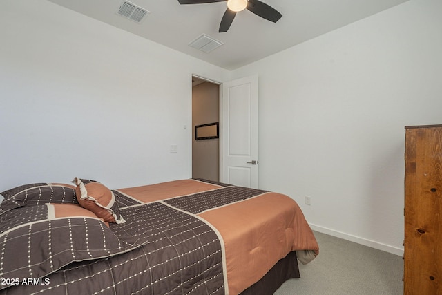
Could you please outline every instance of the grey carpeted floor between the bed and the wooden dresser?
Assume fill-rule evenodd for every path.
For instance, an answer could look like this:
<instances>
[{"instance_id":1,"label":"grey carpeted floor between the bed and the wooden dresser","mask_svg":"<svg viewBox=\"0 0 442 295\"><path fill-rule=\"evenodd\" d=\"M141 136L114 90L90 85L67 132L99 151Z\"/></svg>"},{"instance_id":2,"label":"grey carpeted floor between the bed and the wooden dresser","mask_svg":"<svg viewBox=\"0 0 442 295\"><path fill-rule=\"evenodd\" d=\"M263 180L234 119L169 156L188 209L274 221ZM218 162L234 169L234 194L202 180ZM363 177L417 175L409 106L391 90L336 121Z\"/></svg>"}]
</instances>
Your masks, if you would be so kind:
<instances>
[{"instance_id":1,"label":"grey carpeted floor between the bed and the wooden dresser","mask_svg":"<svg viewBox=\"0 0 442 295\"><path fill-rule=\"evenodd\" d=\"M314 232L320 254L274 295L403 294L401 256Z\"/></svg>"}]
</instances>

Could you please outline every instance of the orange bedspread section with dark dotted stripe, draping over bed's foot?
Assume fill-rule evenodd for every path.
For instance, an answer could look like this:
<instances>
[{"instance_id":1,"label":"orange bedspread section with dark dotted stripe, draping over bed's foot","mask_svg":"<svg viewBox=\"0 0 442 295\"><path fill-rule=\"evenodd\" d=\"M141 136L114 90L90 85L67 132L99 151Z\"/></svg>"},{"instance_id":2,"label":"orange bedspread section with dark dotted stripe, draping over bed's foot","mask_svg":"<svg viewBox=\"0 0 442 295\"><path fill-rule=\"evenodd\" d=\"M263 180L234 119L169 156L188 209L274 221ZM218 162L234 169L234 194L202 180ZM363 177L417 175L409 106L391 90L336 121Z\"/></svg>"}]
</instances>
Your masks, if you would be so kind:
<instances>
[{"instance_id":1,"label":"orange bedspread section with dark dotted stripe, draping over bed's foot","mask_svg":"<svg viewBox=\"0 0 442 295\"><path fill-rule=\"evenodd\" d=\"M218 231L229 294L256 283L290 251L318 254L316 239L294 200L280 193L222 185L177 180L119 191L143 202L165 200Z\"/></svg>"}]
</instances>

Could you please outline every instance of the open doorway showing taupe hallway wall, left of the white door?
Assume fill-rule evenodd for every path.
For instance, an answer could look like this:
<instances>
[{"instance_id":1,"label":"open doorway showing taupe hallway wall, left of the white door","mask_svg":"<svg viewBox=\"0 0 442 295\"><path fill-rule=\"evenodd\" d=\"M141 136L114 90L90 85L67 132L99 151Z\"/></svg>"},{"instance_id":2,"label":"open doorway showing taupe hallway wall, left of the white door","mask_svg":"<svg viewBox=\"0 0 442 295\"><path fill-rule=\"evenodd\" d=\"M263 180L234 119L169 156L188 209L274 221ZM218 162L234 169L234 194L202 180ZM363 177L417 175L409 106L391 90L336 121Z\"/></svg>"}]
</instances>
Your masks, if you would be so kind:
<instances>
[{"instance_id":1,"label":"open doorway showing taupe hallway wall, left of the white door","mask_svg":"<svg viewBox=\"0 0 442 295\"><path fill-rule=\"evenodd\" d=\"M192 178L220 181L219 137L195 137L195 126L219 122L220 85L192 76Z\"/></svg>"}]
</instances>

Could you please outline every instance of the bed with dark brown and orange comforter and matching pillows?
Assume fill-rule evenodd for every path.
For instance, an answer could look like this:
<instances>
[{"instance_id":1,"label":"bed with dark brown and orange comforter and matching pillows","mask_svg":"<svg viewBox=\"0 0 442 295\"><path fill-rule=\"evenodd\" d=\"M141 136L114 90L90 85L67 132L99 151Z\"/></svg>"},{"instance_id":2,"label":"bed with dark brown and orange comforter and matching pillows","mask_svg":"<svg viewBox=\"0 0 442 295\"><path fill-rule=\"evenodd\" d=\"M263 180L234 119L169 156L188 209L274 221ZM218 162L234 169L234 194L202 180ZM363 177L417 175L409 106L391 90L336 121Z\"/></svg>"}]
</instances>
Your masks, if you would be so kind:
<instances>
[{"instance_id":1,"label":"bed with dark brown and orange comforter and matching pillows","mask_svg":"<svg viewBox=\"0 0 442 295\"><path fill-rule=\"evenodd\" d=\"M318 255L288 196L202 179L3 191L0 294L273 294Z\"/></svg>"}]
</instances>

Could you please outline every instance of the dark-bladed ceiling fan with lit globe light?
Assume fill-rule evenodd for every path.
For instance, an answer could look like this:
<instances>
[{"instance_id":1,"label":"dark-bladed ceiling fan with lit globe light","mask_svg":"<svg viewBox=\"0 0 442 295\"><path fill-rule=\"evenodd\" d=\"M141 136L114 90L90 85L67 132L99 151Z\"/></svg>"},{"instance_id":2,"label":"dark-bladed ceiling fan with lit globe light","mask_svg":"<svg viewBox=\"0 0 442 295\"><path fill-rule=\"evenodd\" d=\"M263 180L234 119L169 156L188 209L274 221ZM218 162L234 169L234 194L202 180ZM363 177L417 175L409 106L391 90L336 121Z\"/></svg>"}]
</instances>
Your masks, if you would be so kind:
<instances>
[{"instance_id":1,"label":"dark-bladed ceiling fan with lit globe light","mask_svg":"<svg viewBox=\"0 0 442 295\"><path fill-rule=\"evenodd\" d=\"M227 32L236 16L236 12L240 12L244 9L253 12L263 19L273 21L273 23L276 23L276 21L282 17L275 8L259 0L178 0L180 4L202 4L222 1L227 1L227 9L221 19L220 30L218 30L218 32Z\"/></svg>"}]
</instances>

